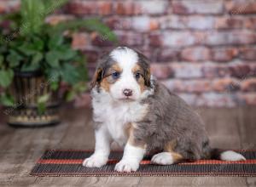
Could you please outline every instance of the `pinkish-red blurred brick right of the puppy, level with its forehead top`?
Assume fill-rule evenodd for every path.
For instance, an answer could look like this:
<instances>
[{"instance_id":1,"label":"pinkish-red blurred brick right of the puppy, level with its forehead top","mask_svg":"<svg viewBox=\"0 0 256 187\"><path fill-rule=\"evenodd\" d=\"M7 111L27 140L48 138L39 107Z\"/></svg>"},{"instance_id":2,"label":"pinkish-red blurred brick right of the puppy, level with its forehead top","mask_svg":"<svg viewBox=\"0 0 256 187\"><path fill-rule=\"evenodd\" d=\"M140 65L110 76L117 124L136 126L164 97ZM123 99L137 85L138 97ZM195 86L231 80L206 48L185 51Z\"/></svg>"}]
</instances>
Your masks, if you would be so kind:
<instances>
[{"instance_id":1,"label":"pinkish-red blurred brick right of the puppy, level with its forehead top","mask_svg":"<svg viewBox=\"0 0 256 187\"><path fill-rule=\"evenodd\" d=\"M180 50L175 48L160 49L156 53L156 60L160 62L171 62L179 59Z\"/></svg>"}]
</instances>

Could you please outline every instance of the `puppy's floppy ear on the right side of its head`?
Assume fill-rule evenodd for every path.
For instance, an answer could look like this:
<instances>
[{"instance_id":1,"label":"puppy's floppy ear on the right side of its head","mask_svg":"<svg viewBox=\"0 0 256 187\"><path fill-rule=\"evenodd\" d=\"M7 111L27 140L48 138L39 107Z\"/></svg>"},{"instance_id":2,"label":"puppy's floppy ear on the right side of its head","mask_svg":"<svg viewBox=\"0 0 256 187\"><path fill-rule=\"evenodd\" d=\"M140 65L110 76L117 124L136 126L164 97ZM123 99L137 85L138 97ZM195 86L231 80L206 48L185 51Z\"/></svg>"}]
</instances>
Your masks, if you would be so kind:
<instances>
[{"instance_id":1,"label":"puppy's floppy ear on the right side of its head","mask_svg":"<svg viewBox=\"0 0 256 187\"><path fill-rule=\"evenodd\" d=\"M138 57L139 57L139 64L143 68L143 77L144 77L145 86L147 86L148 88L152 88L151 80L150 80L151 79L151 72L150 72L149 59L138 51L137 51L137 54L138 54Z\"/></svg>"}]
</instances>

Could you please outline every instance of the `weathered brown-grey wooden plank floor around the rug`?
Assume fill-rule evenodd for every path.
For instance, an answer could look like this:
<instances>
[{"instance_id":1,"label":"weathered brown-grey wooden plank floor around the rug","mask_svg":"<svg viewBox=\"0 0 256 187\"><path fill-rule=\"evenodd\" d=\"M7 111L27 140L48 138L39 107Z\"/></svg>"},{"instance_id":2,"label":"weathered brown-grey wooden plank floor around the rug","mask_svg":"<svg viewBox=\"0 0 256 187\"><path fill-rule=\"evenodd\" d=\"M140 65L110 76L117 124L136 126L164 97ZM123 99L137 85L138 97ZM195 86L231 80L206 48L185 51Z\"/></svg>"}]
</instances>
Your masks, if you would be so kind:
<instances>
[{"instance_id":1,"label":"weathered brown-grey wooden plank floor around the rug","mask_svg":"<svg viewBox=\"0 0 256 187\"><path fill-rule=\"evenodd\" d=\"M256 148L256 107L196 109L213 146ZM91 111L65 106L55 127L14 128L0 118L0 186L256 186L256 178L238 177L30 177L45 149L93 149Z\"/></svg>"}]
</instances>

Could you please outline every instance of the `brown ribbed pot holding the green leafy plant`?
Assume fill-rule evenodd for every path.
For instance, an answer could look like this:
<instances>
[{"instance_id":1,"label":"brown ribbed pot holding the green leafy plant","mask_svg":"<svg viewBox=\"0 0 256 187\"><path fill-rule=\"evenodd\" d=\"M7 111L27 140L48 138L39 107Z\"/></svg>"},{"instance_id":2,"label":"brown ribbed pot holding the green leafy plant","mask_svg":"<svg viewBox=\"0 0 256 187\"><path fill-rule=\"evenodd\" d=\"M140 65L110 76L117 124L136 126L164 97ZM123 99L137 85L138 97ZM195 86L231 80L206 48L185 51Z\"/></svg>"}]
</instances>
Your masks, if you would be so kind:
<instances>
[{"instance_id":1,"label":"brown ribbed pot holding the green leafy plant","mask_svg":"<svg viewBox=\"0 0 256 187\"><path fill-rule=\"evenodd\" d=\"M59 91L52 91L49 81L40 71L15 72L10 93L15 97L15 106L6 109L8 123L12 126L42 127L60 122ZM49 94L43 113L38 111L38 97Z\"/></svg>"}]
</instances>

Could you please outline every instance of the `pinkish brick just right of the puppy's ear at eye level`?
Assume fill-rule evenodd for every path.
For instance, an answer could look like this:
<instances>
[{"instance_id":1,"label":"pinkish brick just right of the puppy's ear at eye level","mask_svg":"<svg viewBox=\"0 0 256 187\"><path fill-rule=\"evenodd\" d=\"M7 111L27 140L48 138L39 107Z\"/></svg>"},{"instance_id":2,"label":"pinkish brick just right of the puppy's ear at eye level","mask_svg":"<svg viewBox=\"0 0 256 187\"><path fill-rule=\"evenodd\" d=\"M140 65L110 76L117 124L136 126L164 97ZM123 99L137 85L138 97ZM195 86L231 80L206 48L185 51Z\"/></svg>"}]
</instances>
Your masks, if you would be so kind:
<instances>
[{"instance_id":1,"label":"pinkish brick just right of the puppy's ear at eye level","mask_svg":"<svg viewBox=\"0 0 256 187\"><path fill-rule=\"evenodd\" d=\"M151 64L151 73L158 79L173 77L172 68L166 64Z\"/></svg>"}]
</instances>

